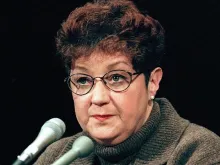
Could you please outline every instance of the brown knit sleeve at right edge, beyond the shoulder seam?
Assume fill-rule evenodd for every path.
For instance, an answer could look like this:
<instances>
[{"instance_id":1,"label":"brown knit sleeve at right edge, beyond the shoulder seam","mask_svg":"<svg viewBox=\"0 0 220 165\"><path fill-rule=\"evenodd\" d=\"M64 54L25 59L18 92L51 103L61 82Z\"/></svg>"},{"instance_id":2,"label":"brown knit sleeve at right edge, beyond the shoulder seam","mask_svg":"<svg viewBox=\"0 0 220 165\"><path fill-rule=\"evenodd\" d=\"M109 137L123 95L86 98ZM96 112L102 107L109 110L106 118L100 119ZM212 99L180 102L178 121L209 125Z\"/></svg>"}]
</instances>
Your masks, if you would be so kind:
<instances>
[{"instance_id":1,"label":"brown knit sleeve at right edge, beyond the shoulder seam","mask_svg":"<svg viewBox=\"0 0 220 165\"><path fill-rule=\"evenodd\" d=\"M214 132L189 124L183 132L172 156L179 163L214 164L220 163L220 137Z\"/></svg>"}]
</instances>

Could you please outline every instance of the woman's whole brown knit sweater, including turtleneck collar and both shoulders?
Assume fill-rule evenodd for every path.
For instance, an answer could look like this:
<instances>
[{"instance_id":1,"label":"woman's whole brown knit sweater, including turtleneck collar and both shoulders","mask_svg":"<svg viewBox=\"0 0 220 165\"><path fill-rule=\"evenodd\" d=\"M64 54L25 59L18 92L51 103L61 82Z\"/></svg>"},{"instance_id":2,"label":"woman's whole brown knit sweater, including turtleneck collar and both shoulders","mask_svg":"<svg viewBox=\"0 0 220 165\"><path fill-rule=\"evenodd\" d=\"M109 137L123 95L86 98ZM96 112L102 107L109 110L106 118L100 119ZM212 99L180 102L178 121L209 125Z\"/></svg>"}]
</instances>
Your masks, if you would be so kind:
<instances>
[{"instance_id":1,"label":"woman's whole brown knit sweater, including turtleneck collar and both shoulders","mask_svg":"<svg viewBox=\"0 0 220 165\"><path fill-rule=\"evenodd\" d=\"M50 145L34 165L49 165L71 149L78 133ZM181 118L165 98L155 99L142 128L124 142L95 150L71 165L212 165L220 164L220 137Z\"/></svg>"}]
</instances>

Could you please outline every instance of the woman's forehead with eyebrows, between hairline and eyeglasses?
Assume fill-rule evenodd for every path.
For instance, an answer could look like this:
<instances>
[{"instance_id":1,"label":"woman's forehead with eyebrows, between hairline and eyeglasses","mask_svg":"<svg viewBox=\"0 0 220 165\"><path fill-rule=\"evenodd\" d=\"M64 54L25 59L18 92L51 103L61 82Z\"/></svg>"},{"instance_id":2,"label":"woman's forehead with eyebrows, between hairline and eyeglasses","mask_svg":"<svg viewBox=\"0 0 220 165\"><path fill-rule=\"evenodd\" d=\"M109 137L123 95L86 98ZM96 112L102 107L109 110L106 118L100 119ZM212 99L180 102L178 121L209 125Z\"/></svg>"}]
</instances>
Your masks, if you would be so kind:
<instances>
[{"instance_id":1,"label":"woman's forehead with eyebrows, between hairline and eyeglasses","mask_svg":"<svg viewBox=\"0 0 220 165\"><path fill-rule=\"evenodd\" d=\"M132 63L129 56L122 53L104 54L92 53L90 56L80 57L72 63L71 70L85 70L90 72L109 71L113 69L131 70Z\"/></svg>"}]
</instances>

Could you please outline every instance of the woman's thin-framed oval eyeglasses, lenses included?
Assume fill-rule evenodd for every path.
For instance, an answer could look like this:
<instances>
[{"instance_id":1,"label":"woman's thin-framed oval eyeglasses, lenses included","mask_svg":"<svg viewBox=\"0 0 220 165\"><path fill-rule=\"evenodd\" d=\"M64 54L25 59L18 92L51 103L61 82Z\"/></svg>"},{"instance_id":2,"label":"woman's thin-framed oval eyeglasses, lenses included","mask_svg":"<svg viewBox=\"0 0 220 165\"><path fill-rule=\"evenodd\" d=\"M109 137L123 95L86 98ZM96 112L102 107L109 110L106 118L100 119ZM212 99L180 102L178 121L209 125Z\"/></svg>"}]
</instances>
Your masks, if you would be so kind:
<instances>
[{"instance_id":1,"label":"woman's thin-framed oval eyeglasses, lenses included","mask_svg":"<svg viewBox=\"0 0 220 165\"><path fill-rule=\"evenodd\" d=\"M70 75L64 81L67 82L68 87L73 93L81 96L90 92L95 84L95 79L102 80L106 87L112 91L122 92L126 90L140 74L141 72L131 73L124 70L112 70L102 77L92 77L87 74L76 73ZM133 77L134 75L135 77Z\"/></svg>"}]
</instances>

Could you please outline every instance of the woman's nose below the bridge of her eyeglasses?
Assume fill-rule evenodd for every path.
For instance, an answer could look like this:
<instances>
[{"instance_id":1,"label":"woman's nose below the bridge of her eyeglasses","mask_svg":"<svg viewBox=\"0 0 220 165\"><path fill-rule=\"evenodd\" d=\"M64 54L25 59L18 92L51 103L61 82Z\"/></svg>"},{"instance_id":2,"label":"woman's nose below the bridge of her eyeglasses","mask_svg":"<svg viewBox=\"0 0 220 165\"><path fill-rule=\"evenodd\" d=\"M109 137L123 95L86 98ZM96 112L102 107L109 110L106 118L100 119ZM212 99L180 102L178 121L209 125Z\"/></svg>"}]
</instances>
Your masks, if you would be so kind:
<instances>
[{"instance_id":1,"label":"woman's nose below the bridge of her eyeglasses","mask_svg":"<svg viewBox=\"0 0 220 165\"><path fill-rule=\"evenodd\" d=\"M110 101L109 89L105 86L103 81L96 81L92 89L92 103L98 106L108 104Z\"/></svg>"}]
</instances>

